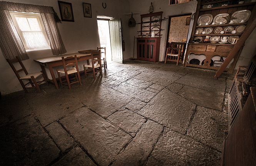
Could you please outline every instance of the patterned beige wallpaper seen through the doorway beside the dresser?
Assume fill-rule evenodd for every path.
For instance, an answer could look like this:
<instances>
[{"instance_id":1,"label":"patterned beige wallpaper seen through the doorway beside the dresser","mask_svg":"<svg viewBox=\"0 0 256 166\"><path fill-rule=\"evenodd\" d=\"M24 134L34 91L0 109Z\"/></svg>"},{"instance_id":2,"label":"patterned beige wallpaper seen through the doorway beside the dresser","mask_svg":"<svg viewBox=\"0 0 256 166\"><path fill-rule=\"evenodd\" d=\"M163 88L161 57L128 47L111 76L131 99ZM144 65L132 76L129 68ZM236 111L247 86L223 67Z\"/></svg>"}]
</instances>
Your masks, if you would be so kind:
<instances>
[{"instance_id":1,"label":"patterned beige wallpaper seen through the doorway beside the dresser","mask_svg":"<svg viewBox=\"0 0 256 166\"><path fill-rule=\"evenodd\" d=\"M169 42L181 42L181 40L187 40L187 33L189 25L186 25L186 20L189 16L172 17L171 26L169 32Z\"/></svg>"}]
</instances>

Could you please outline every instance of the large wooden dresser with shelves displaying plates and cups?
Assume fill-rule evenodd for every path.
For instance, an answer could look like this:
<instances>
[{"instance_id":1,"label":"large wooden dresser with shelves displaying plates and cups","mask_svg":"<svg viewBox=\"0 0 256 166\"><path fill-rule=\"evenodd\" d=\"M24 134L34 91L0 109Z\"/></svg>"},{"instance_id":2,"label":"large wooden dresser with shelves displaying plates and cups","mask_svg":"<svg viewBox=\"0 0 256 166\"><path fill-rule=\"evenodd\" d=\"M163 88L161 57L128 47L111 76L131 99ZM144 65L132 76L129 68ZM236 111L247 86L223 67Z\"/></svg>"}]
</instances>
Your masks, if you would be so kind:
<instances>
[{"instance_id":1,"label":"large wooden dresser with shelves displaying plates and cups","mask_svg":"<svg viewBox=\"0 0 256 166\"><path fill-rule=\"evenodd\" d=\"M248 1L247 1L248 2ZM236 30L238 27L245 27L244 31L246 30L246 25L252 19L252 17L249 17L248 21L245 22L226 22L223 24L215 23L214 18L216 16L222 17L221 14L224 16L233 15L237 11L241 10L249 10L250 12L253 11L253 7L255 5L255 2L249 2L249 3L243 3L239 4L236 0L198 0L197 3L197 11L194 16L194 25L192 28L191 38L189 40L188 46L187 46L187 52L186 52L186 58L184 66L193 66L198 68L208 68L208 69L214 69L218 70L219 66L221 65L221 57L226 58L231 50L233 49L235 44L228 43L204 43L204 39L206 39L206 36L208 37L229 37L229 41L231 41L232 38L239 38L243 34L241 33L217 33L217 31L214 31L216 28L223 29L223 31L231 27L233 30ZM212 21L208 24L202 24L200 25L198 20L200 20L203 16L212 16ZM200 20L201 21L201 20ZM215 22L217 22L215 20ZM211 30L209 30L211 29ZM198 33L198 30L201 30L202 32L206 32L209 30L208 33L202 34L202 32ZM232 30L232 31L233 31ZM196 38L201 38L201 42L194 43ZM238 61L239 55L241 53L243 47L236 53L236 56L233 59L233 62L229 66L229 68L226 68L225 71L233 72L234 67ZM201 57L200 63L190 63L193 58ZM219 58L219 59L218 59ZM218 61L218 63L215 63L215 61ZM198 62L198 61L197 61Z\"/></svg>"}]
</instances>

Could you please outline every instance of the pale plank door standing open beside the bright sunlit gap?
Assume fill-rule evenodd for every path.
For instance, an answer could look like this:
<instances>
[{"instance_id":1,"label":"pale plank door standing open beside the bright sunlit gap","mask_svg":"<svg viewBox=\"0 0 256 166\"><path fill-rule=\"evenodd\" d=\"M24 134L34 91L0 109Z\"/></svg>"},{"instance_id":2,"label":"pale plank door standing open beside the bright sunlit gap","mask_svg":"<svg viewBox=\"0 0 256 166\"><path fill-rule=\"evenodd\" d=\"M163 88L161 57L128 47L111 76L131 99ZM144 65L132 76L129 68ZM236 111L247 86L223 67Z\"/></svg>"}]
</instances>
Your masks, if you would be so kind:
<instances>
[{"instance_id":1,"label":"pale plank door standing open beside the bright sunlit gap","mask_svg":"<svg viewBox=\"0 0 256 166\"><path fill-rule=\"evenodd\" d=\"M121 18L109 21L112 61L123 63Z\"/></svg>"}]
</instances>

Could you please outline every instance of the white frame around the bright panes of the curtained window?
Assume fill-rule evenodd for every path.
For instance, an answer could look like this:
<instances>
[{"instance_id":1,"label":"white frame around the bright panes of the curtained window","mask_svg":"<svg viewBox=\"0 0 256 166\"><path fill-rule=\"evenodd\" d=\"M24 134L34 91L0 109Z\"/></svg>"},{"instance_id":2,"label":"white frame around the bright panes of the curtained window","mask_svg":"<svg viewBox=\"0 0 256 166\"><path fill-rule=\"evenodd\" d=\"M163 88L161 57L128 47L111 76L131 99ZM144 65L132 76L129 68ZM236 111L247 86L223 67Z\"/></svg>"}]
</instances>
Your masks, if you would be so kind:
<instances>
[{"instance_id":1,"label":"white frame around the bright panes of the curtained window","mask_svg":"<svg viewBox=\"0 0 256 166\"><path fill-rule=\"evenodd\" d=\"M45 31L44 23L43 23L43 20L42 20L42 17L40 15L40 13L10 12L10 11L9 11L9 13L12 17L12 21L13 21L13 24L14 24L17 32L18 32L18 35L20 36L20 39L22 40L22 43L25 47L25 50L42 50L42 49L45 49L45 48L37 48L37 49L28 48L27 42L26 42L25 38L23 37L22 31L20 30L20 27L18 26L17 20L15 18L16 15L18 17L23 16L23 17L26 17L26 18L37 18L38 24L40 25L40 27L42 29L42 33L44 34L45 40L46 40L46 42L47 42L47 44L49 45L49 48L50 48L50 43L49 43L47 33Z\"/></svg>"}]
</instances>

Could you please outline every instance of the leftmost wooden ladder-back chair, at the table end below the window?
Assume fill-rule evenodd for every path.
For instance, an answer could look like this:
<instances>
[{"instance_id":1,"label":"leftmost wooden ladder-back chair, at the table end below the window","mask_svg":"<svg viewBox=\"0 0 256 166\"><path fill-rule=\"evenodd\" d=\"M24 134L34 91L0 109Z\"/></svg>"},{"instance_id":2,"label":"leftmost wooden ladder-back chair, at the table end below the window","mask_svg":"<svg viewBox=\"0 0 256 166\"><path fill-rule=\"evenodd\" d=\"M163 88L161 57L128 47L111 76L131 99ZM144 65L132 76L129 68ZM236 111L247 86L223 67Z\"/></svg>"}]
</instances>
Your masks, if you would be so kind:
<instances>
[{"instance_id":1,"label":"leftmost wooden ladder-back chair, at the table end below the window","mask_svg":"<svg viewBox=\"0 0 256 166\"><path fill-rule=\"evenodd\" d=\"M40 83L44 82L48 84L46 76L44 75L44 73L42 71L37 72L37 73L28 73L25 66L23 65L22 61L20 60L20 58L18 56L16 56L15 59L12 60L8 60L6 59L7 62L9 63L9 65L11 66L12 70L14 71L15 75L17 76L18 80L20 81L20 84L23 88L23 90L25 91L25 93L28 93L27 88L37 88L38 92L41 92L39 85ZM21 66L21 69L17 70L15 68L15 66L13 65L14 63L19 63ZM18 66L16 66L18 68ZM24 71L26 76L20 76L20 72ZM43 75L44 80L42 81L36 81L35 79L38 78L40 75ZM28 83L23 83L23 80L28 80ZM31 85L31 87L26 87L28 84Z\"/></svg>"}]
</instances>

